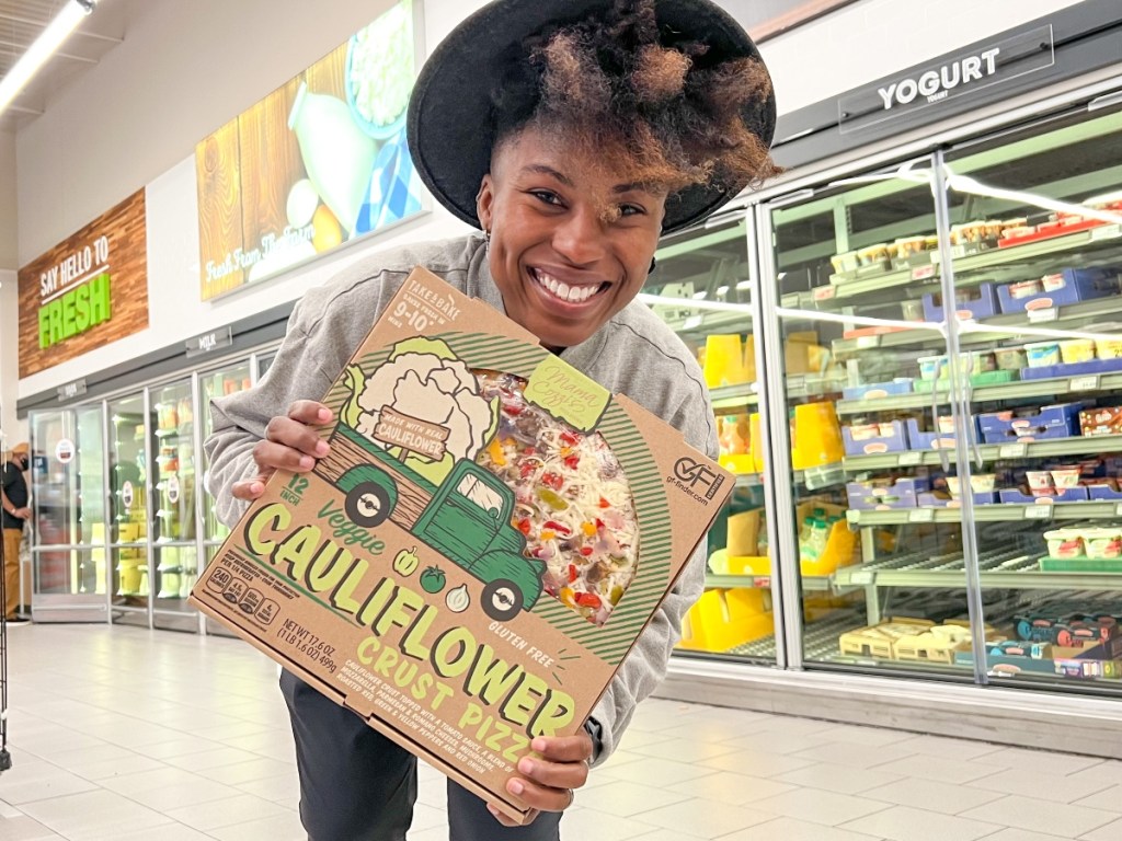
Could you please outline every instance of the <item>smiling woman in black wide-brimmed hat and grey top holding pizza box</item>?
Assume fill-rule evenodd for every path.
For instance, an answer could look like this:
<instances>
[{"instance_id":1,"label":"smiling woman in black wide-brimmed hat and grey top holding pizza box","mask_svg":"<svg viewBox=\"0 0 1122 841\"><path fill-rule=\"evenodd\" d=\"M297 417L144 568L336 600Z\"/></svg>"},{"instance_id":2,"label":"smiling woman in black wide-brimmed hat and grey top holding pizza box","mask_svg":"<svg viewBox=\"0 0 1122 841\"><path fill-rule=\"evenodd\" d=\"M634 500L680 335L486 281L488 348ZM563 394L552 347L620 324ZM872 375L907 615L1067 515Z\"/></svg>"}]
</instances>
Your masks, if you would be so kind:
<instances>
[{"instance_id":1,"label":"smiling woman in black wide-brimmed hat and grey top holding pizza box","mask_svg":"<svg viewBox=\"0 0 1122 841\"><path fill-rule=\"evenodd\" d=\"M752 41L709 0L497 0L462 22L423 68L410 149L425 184L482 230L376 256L297 305L268 376L213 406L210 487L223 519L276 469L307 471L328 445L323 395L408 271L424 265L539 336L613 391L716 456L697 362L634 302L659 238L776 172L774 101ZM700 594L700 551L644 630L585 732L540 738L512 794L527 826L449 783L454 841L558 839L561 813L618 743L665 672ZM404 839L416 763L291 674L301 815L312 841ZM504 825L499 825L499 824Z\"/></svg>"}]
</instances>

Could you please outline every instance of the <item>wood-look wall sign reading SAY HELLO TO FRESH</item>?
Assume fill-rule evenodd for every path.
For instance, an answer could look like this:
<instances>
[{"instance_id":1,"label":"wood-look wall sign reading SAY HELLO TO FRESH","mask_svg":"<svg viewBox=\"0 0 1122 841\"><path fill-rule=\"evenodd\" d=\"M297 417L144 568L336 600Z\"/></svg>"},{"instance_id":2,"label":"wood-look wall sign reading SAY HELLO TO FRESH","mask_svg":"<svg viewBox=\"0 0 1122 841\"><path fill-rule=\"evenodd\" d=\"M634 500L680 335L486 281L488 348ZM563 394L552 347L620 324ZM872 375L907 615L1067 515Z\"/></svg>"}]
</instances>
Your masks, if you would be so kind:
<instances>
[{"instance_id":1,"label":"wood-look wall sign reading SAY HELLO TO FRESH","mask_svg":"<svg viewBox=\"0 0 1122 841\"><path fill-rule=\"evenodd\" d=\"M145 192L19 270L19 376L148 326Z\"/></svg>"}]
</instances>

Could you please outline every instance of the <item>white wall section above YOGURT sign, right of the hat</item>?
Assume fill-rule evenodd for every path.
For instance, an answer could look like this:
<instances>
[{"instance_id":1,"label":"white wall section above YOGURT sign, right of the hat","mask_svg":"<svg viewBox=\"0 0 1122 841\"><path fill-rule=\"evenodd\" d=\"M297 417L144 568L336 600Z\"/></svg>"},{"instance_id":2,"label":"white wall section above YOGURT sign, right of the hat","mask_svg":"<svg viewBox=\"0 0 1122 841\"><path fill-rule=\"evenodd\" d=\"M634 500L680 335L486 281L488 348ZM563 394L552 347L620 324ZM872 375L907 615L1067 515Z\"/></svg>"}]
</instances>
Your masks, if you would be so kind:
<instances>
[{"instance_id":1,"label":"white wall section above YOGURT sign, right of the hat","mask_svg":"<svg viewBox=\"0 0 1122 841\"><path fill-rule=\"evenodd\" d=\"M738 2L728 0L735 13ZM951 53L1079 0L862 0L760 45L780 113Z\"/></svg>"}]
</instances>

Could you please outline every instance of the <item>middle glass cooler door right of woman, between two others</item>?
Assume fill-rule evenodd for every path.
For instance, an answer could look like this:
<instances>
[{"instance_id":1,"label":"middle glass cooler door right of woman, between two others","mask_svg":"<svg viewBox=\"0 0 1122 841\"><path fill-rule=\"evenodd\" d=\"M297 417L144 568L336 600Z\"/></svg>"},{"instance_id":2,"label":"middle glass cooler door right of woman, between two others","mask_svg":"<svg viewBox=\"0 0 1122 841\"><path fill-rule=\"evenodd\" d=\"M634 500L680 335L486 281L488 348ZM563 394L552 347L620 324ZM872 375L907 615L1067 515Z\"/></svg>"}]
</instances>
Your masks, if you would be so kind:
<instances>
[{"instance_id":1,"label":"middle glass cooler door right of woman, between two others","mask_svg":"<svg viewBox=\"0 0 1122 841\"><path fill-rule=\"evenodd\" d=\"M793 665L971 678L931 161L760 214Z\"/></svg>"}]
</instances>

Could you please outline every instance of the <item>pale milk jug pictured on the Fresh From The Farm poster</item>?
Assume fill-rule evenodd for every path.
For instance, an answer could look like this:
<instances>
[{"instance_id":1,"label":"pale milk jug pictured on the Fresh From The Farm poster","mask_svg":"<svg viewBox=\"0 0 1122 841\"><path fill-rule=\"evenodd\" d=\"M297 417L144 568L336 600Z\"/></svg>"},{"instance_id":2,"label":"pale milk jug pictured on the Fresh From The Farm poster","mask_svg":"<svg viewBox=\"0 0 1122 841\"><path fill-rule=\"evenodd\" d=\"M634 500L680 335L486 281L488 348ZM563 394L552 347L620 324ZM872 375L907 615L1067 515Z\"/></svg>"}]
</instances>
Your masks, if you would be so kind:
<instances>
[{"instance_id":1,"label":"pale milk jug pictured on the Fresh From The Farm poster","mask_svg":"<svg viewBox=\"0 0 1122 841\"><path fill-rule=\"evenodd\" d=\"M296 132L309 179L348 235L352 235L370 186L374 140L351 119L346 102L311 93L305 83L301 83L292 104L288 128Z\"/></svg>"}]
</instances>

